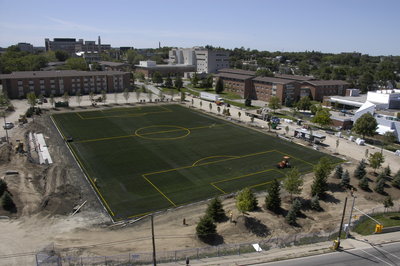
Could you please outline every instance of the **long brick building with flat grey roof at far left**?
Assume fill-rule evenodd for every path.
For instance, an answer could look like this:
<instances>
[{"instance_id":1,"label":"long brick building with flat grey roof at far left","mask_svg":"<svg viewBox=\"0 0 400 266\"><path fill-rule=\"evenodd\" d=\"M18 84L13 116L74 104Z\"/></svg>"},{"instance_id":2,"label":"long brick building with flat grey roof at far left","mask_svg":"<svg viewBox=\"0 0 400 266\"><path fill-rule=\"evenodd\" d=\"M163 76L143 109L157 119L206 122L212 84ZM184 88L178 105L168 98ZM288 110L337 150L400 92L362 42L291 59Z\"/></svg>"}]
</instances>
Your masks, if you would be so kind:
<instances>
[{"instance_id":1,"label":"long brick building with flat grey roof at far left","mask_svg":"<svg viewBox=\"0 0 400 266\"><path fill-rule=\"evenodd\" d=\"M36 95L75 95L90 92L122 92L130 89L130 73L121 71L21 71L0 75L3 91L11 99L26 97L34 92Z\"/></svg>"}]
</instances>

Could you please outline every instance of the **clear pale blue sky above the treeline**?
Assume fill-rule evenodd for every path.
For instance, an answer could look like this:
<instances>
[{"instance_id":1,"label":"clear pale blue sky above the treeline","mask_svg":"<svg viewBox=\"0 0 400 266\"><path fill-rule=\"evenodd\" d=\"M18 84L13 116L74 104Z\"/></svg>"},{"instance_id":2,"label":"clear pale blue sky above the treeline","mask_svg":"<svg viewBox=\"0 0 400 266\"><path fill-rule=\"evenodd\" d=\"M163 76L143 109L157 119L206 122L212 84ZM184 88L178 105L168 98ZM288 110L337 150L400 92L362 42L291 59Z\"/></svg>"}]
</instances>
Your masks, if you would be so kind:
<instances>
[{"instance_id":1,"label":"clear pale blue sky above the treeline","mask_svg":"<svg viewBox=\"0 0 400 266\"><path fill-rule=\"evenodd\" d=\"M0 47L245 47L400 55L400 0L0 0Z\"/></svg>"}]
</instances>

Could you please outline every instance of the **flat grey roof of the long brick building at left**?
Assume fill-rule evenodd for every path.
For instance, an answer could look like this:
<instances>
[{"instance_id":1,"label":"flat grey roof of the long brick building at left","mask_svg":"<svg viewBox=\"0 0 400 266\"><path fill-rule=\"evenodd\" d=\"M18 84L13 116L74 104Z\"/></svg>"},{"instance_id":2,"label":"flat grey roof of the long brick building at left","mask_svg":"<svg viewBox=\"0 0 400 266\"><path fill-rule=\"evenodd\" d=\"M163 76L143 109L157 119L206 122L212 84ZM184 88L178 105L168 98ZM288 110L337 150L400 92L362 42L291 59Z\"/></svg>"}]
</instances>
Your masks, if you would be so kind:
<instances>
[{"instance_id":1,"label":"flat grey roof of the long brick building at left","mask_svg":"<svg viewBox=\"0 0 400 266\"><path fill-rule=\"evenodd\" d=\"M18 72L12 72L11 74L1 74L0 79L118 75L118 74L125 74L125 73L126 72L122 72L122 71L77 71L77 70L18 71Z\"/></svg>"}]
</instances>

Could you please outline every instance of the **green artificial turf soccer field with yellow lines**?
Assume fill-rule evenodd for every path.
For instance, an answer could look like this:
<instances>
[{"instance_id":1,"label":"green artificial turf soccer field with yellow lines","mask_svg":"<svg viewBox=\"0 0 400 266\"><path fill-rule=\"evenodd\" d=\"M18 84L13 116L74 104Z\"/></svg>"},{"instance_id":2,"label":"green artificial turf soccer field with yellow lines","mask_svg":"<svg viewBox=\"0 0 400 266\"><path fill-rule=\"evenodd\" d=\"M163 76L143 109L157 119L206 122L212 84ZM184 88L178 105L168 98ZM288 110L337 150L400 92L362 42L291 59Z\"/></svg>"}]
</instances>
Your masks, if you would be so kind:
<instances>
[{"instance_id":1,"label":"green artificial turf soccer field with yellow lines","mask_svg":"<svg viewBox=\"0 0 400 266\"><path fill-rule=\"evenodd\" d=\"M288 169L326 156L179 105L53 115L114 220L142 216L240 190L266 189ZM331 157L335 162L339 159Z\"/></svg>"}]
</instances>

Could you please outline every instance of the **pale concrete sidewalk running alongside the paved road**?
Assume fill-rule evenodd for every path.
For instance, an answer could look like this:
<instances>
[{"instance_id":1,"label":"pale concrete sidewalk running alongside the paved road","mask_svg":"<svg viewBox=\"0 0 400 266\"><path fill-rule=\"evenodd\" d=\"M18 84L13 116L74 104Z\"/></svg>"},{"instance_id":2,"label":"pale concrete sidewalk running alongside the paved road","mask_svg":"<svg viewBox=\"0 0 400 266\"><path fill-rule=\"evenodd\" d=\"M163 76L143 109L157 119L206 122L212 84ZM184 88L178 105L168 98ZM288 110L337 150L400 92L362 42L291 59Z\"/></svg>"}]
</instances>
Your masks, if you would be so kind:
<instances>
[{"instance_id":1,"label":"pale concrete sidewalk running alongside the paved road","mask_svg":"<svg viewBox=\"0 0 400 266\"><path fill-rule=\"evenodd\" d=\"M400 232L358 236L341 241L341 247L344 250L364 249L371 245L380 245L400 241ZM293 259L306 256L314 256L329 252L335 252L331 249L333 242L321 242L304 246L294 246L281 249L271 249L262 252L246 253L243 255L213 257L200 260L191 260L190 265L252 265L266 263L278 260ZM186 265L185 261L176 263L166 263L162 265Z\"/></svg>"}]
</instances>

